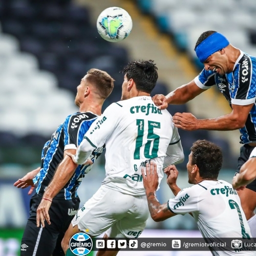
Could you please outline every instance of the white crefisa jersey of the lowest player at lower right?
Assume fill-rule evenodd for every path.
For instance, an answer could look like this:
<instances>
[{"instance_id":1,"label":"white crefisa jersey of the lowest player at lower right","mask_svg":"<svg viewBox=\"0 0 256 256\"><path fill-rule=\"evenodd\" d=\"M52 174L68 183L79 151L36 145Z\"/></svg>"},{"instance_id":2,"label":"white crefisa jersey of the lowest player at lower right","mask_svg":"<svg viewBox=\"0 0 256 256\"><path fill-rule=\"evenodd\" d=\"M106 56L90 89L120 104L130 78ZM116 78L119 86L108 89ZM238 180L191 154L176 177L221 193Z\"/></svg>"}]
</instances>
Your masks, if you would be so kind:
<instances>
[{"instance_id":1,"label":"white crefisa jersey of the lowest player at lower right","mask_svg":"<svg viewBox=\"0 0 256 256\"><path fill-rule=\"evenodd\" d=\"M224 180L204 180L181 190L168 201L168 208L177 214L192 213L203 237L252 237L237 192ZM255 252L216 251L217 255L252 256Z\"/></svg>"}]
</instances>

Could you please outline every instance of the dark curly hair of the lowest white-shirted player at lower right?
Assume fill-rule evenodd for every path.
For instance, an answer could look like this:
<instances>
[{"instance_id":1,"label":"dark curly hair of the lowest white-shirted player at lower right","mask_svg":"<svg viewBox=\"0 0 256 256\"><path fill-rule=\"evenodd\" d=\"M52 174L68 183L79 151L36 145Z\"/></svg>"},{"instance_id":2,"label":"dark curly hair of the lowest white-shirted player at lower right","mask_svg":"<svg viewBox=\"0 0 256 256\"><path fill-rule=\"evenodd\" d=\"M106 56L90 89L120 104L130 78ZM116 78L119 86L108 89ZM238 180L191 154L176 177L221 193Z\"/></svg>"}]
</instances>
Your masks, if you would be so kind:
<instances>
[{"instance_id":1,"label":"dark curly hair of the lowest white-shirted player at lower right","mask_svg":"<svg viewBox=\"0 0 256 256\"><path fill-rule=\"evenodd\" d=\"M197 165L204 179L217 179L222 167L221 149L213 142L197 140L191 147L192 165Z\"/></svg>"}]
</instances>

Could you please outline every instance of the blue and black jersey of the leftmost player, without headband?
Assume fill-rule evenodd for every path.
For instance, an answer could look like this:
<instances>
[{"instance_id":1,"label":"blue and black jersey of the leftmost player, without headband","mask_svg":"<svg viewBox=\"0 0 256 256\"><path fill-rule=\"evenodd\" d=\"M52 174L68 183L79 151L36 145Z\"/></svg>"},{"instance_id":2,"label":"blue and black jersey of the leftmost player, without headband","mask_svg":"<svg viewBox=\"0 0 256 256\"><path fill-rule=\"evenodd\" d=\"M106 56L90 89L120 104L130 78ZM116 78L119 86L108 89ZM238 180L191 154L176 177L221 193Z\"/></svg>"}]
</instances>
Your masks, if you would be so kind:
<instances>
[{"instance_id":1,"label":"blue and black jersey of the leftmost player, without headband","mask_svg":"<svg viewBox=\"0 0 256 256\"><path fill-rule=\"evenodd\" d=\"M69 115L52 134L51 139L45 143L42 151L41 170L33 179L38 194L43 195L44 190L52 180L58 165L64 158L64 150L76 149L97 117L91 112L77 112ZM93 163L103 149L101 147L92 152L90 159ZM56 195L56 198L68 200L77 197L77 188L91 167L91 165L79 165L64 188Z\"/></svg>"}]
</instances>

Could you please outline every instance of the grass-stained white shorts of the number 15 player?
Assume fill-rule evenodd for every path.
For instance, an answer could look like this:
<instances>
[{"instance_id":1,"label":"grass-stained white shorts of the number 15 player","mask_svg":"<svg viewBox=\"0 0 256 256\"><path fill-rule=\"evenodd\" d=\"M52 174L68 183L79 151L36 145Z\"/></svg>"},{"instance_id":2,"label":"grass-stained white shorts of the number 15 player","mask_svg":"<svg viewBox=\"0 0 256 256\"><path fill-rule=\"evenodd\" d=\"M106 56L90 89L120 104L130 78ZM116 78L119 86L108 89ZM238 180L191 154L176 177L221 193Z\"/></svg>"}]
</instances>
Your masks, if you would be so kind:
<instances>
[{"instance_id":1,"label":"grass-stained white shorts of the number 15 player","mask_svg":"<svg viewBox=\"0 0 256 256\"><path fill-rule=\"evenodd\" d=\"M108 237L137 238L148 218L146 195L133 196L101 186L71 223L91 236L107 231Z\"/></svg>"}]
</instances>

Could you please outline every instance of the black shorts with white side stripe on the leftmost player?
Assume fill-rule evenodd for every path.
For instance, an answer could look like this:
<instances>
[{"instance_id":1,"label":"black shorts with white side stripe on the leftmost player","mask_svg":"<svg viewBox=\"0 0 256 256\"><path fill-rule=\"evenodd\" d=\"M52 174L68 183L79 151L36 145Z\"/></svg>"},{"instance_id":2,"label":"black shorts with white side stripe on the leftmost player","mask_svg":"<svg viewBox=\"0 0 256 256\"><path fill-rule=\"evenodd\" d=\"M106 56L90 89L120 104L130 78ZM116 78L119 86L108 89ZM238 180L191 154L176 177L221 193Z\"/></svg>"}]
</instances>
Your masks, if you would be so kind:
<instances>
[{"instance_id":1,"label":"black shorts with white side stripe on the leftmost player","mask_svg":"<svg viewBox=\"0 0 256 256\"><path fill-rule=\"evenodd\" d=\"M37 193L31 197L30 212L21 239L21 256L64 256L61 242L76 211L80 199L53 199L49 209L51 225L45 221L45 227L37 227L37 208L42 196Z\"/></svg>"}]
</instances>

